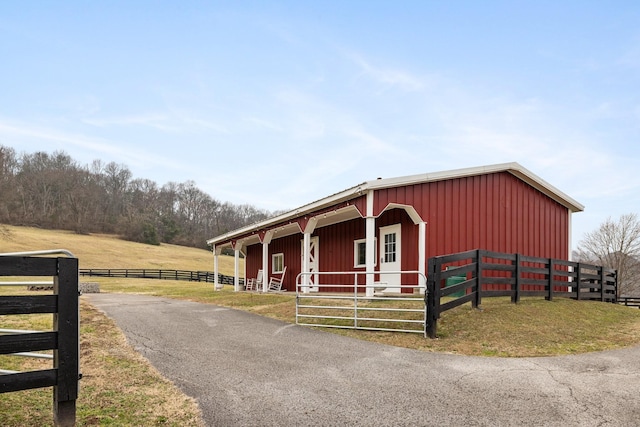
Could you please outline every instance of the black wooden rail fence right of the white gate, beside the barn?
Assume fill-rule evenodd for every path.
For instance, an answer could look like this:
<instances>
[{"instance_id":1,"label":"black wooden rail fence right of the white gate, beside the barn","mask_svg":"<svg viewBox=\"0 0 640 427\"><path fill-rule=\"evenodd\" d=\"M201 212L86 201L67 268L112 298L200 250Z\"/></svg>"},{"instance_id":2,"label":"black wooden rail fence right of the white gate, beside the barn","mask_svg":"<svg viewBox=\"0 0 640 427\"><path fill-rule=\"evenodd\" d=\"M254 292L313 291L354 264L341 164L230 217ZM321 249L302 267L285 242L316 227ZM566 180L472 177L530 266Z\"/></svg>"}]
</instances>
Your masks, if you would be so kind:
<instances>
[{"instance_id":1,"label":"black wooden rail fence right of the white gate, beside the barn","mask_svg":"<svg viewBox=\"0 0 640 427\"><path fill-rule=\"evenodd\" d=\"M484 297L567 297L616 302L617 273L601 266L473 250L429 259L426 332L436 337L444 311Z\"/></svg>"}]
</instances>

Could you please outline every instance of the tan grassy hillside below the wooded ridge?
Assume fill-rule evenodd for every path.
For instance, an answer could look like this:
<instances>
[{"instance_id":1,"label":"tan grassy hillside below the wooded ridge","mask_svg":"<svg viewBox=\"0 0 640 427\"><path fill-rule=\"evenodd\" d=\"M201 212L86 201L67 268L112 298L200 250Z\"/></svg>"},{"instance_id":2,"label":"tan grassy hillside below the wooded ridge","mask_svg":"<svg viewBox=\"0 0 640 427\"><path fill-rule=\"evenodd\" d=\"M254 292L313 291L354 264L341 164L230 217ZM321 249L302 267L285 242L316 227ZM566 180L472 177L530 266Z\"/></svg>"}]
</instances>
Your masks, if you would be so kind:
<instances>
[{"instance_id":1,"label":"tan grassy hillside below the wooded ridge","mask_svg":"<svg viewBox=\"0 0 640 427\"><path fill-rule=\"evenodd\" d=\"M213 255L204 249L145 245L112 235L84 235L32 227L2 226L2 230L0 252L66 249L78 257L80 268L213 270ZM221 256L219 267L222 274L232 275L233 257Z\"/></svg>"}]
</instances>

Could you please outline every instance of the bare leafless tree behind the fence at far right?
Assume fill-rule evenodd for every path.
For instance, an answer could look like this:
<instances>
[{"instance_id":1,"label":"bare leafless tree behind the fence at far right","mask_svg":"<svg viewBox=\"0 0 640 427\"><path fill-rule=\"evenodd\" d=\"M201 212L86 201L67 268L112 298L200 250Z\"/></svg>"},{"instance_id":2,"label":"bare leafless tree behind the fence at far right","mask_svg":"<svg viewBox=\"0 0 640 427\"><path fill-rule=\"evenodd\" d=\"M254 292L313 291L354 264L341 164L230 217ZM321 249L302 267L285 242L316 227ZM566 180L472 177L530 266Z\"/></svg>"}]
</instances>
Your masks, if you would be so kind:
<instances>
[{"instance_id":1,"label":"bare leafless tree behind the fence at far right","mask_svg":"<svg viewBox=\"0 0 640 427\"><path fill-rule=\"evenodd\" d=\"M580 261L618 271L618 296L640 294L640 220L638 215L610 217L597 230L587 233L575 252Z\"/></svg>"}]
</instances>

